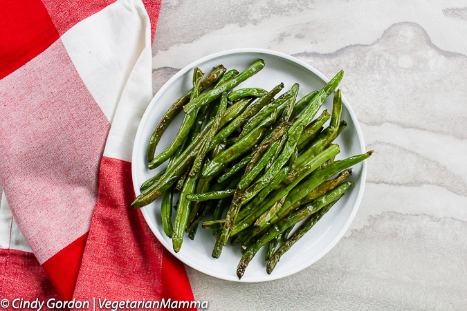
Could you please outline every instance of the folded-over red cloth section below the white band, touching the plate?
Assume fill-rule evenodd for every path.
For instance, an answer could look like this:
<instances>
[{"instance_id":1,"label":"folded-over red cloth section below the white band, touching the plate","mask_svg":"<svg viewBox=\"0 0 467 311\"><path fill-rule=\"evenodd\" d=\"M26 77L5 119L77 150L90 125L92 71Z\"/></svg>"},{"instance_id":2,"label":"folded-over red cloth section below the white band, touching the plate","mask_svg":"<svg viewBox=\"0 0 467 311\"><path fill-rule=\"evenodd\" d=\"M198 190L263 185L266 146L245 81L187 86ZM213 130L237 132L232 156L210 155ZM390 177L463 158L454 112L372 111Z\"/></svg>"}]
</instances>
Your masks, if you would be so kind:
<instances>
[{"instance_id":1,"label":"folded-over red cloth section below the white band, touching the plate","mask_svg":"<svg viewBox=\"0 0 467 311\"><path fill-rule=\"evenodd\" d=\"M192 301L185 268L167 256L140 210L130 207L134 198L131 163L102 158L98 203L75 299L125 300L138 296L152 301L163 297Z\"/></svg>"}]
</instances>

